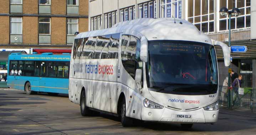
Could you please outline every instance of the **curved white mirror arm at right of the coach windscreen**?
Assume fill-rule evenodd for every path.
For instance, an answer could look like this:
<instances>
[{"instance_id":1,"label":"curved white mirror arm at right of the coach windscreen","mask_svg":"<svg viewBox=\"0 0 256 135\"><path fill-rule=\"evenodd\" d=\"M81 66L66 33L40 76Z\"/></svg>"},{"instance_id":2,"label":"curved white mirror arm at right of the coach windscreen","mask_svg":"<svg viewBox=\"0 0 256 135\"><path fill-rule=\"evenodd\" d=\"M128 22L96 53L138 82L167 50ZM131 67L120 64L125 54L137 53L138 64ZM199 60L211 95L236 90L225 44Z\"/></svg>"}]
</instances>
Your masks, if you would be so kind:
<instances>
[{"instance_id":1,"label":"curved white mirror arm at right of the coach windscreen","mask_svg":"<svg viewBox=\"0 0 256 135\"><path fill-rule=\"evenodd\" d=\"M230 49L229 46L227 46L225 43L217 41L217 40L211 40L213 42L214 46L221 46L224 56L224 63L225 66L228 67L230 65Z\"/></svg>"}]
</instances>

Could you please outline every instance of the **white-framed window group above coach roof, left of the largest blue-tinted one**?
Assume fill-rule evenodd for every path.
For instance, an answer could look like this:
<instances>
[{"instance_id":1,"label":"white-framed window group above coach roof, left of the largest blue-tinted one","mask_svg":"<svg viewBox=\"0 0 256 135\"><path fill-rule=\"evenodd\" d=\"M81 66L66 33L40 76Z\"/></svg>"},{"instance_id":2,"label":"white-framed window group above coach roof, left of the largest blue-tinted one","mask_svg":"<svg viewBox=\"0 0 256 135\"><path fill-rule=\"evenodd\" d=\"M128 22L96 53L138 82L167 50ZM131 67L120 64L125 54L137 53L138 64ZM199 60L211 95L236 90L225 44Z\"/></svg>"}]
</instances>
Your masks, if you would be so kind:
<instances>
[{"instance_id":1,"label":"white-framed window group above coach roof, left of the largest blue-tinted one","mask_svg":"<svg viewBox=\"0 0 256 135\"><path fill-rule=\"evenodd\" d=\"M138 4L138 18L156 18L157 17L157 1L149 1Z\"/></svg>"}]
</instances>

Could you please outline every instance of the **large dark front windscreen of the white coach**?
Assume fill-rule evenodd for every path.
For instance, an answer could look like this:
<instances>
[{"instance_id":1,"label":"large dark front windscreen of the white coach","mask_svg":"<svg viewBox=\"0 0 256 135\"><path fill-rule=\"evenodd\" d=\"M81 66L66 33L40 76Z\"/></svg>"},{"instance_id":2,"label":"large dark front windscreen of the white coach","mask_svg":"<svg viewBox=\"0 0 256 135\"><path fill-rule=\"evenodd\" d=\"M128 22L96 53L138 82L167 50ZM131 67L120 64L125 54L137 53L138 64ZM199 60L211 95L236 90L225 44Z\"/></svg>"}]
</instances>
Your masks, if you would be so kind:
<instances>
[{"instance_id":1,"label":"large dark front windscreen of the white coach","mask_svg":"<svg viewBox=\"0 0 256 135\"><path fill-rule=\"evenodd\" d=\"M149 41L149 90L169 94L205 95L217 92L214 46L188 41Z\"/></svg>"}]
</instances>

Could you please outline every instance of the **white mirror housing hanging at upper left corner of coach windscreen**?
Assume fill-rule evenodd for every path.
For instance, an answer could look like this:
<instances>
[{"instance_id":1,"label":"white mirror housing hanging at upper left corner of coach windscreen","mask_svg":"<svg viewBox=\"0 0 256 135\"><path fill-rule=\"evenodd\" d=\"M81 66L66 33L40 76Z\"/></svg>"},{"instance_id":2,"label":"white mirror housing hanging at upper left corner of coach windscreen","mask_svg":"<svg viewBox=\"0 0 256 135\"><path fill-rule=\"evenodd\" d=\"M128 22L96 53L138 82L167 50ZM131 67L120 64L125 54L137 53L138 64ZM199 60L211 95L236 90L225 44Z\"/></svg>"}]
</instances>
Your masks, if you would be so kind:
<instances>
[{"instance_id":1,"label":"white mirror housing hanging at upper left corner of coach windscreen","mask_svg":"<svg viewBox=\"0 0 256 135\"><path fill-rule=\"evenodd\" d=\"M140 42L140 59L143 62L148 62L148 40L145 36L141 37Z\"/></svg>"}]
</instances>

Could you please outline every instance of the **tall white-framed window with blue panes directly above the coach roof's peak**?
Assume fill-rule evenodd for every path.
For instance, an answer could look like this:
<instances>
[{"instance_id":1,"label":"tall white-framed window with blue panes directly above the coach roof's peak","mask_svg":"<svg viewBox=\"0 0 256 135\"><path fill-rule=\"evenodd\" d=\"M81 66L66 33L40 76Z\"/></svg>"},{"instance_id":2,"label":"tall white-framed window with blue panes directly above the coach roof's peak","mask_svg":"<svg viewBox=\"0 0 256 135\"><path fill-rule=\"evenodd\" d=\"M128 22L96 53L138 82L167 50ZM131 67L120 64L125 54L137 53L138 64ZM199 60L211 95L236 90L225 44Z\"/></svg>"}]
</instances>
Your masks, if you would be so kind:
<instances>
[{"instance_id":1,"label":"tall white-framed window with blue panes directly above the coach roof's peak","mask_svg":"<svg viewBox=\"0 0 256 135\"><path fill-rule=\"evenodd\" d=\"M160 0L160 17L181 18L181 10L181 0Z\"/></svg>"}]
</instances>

